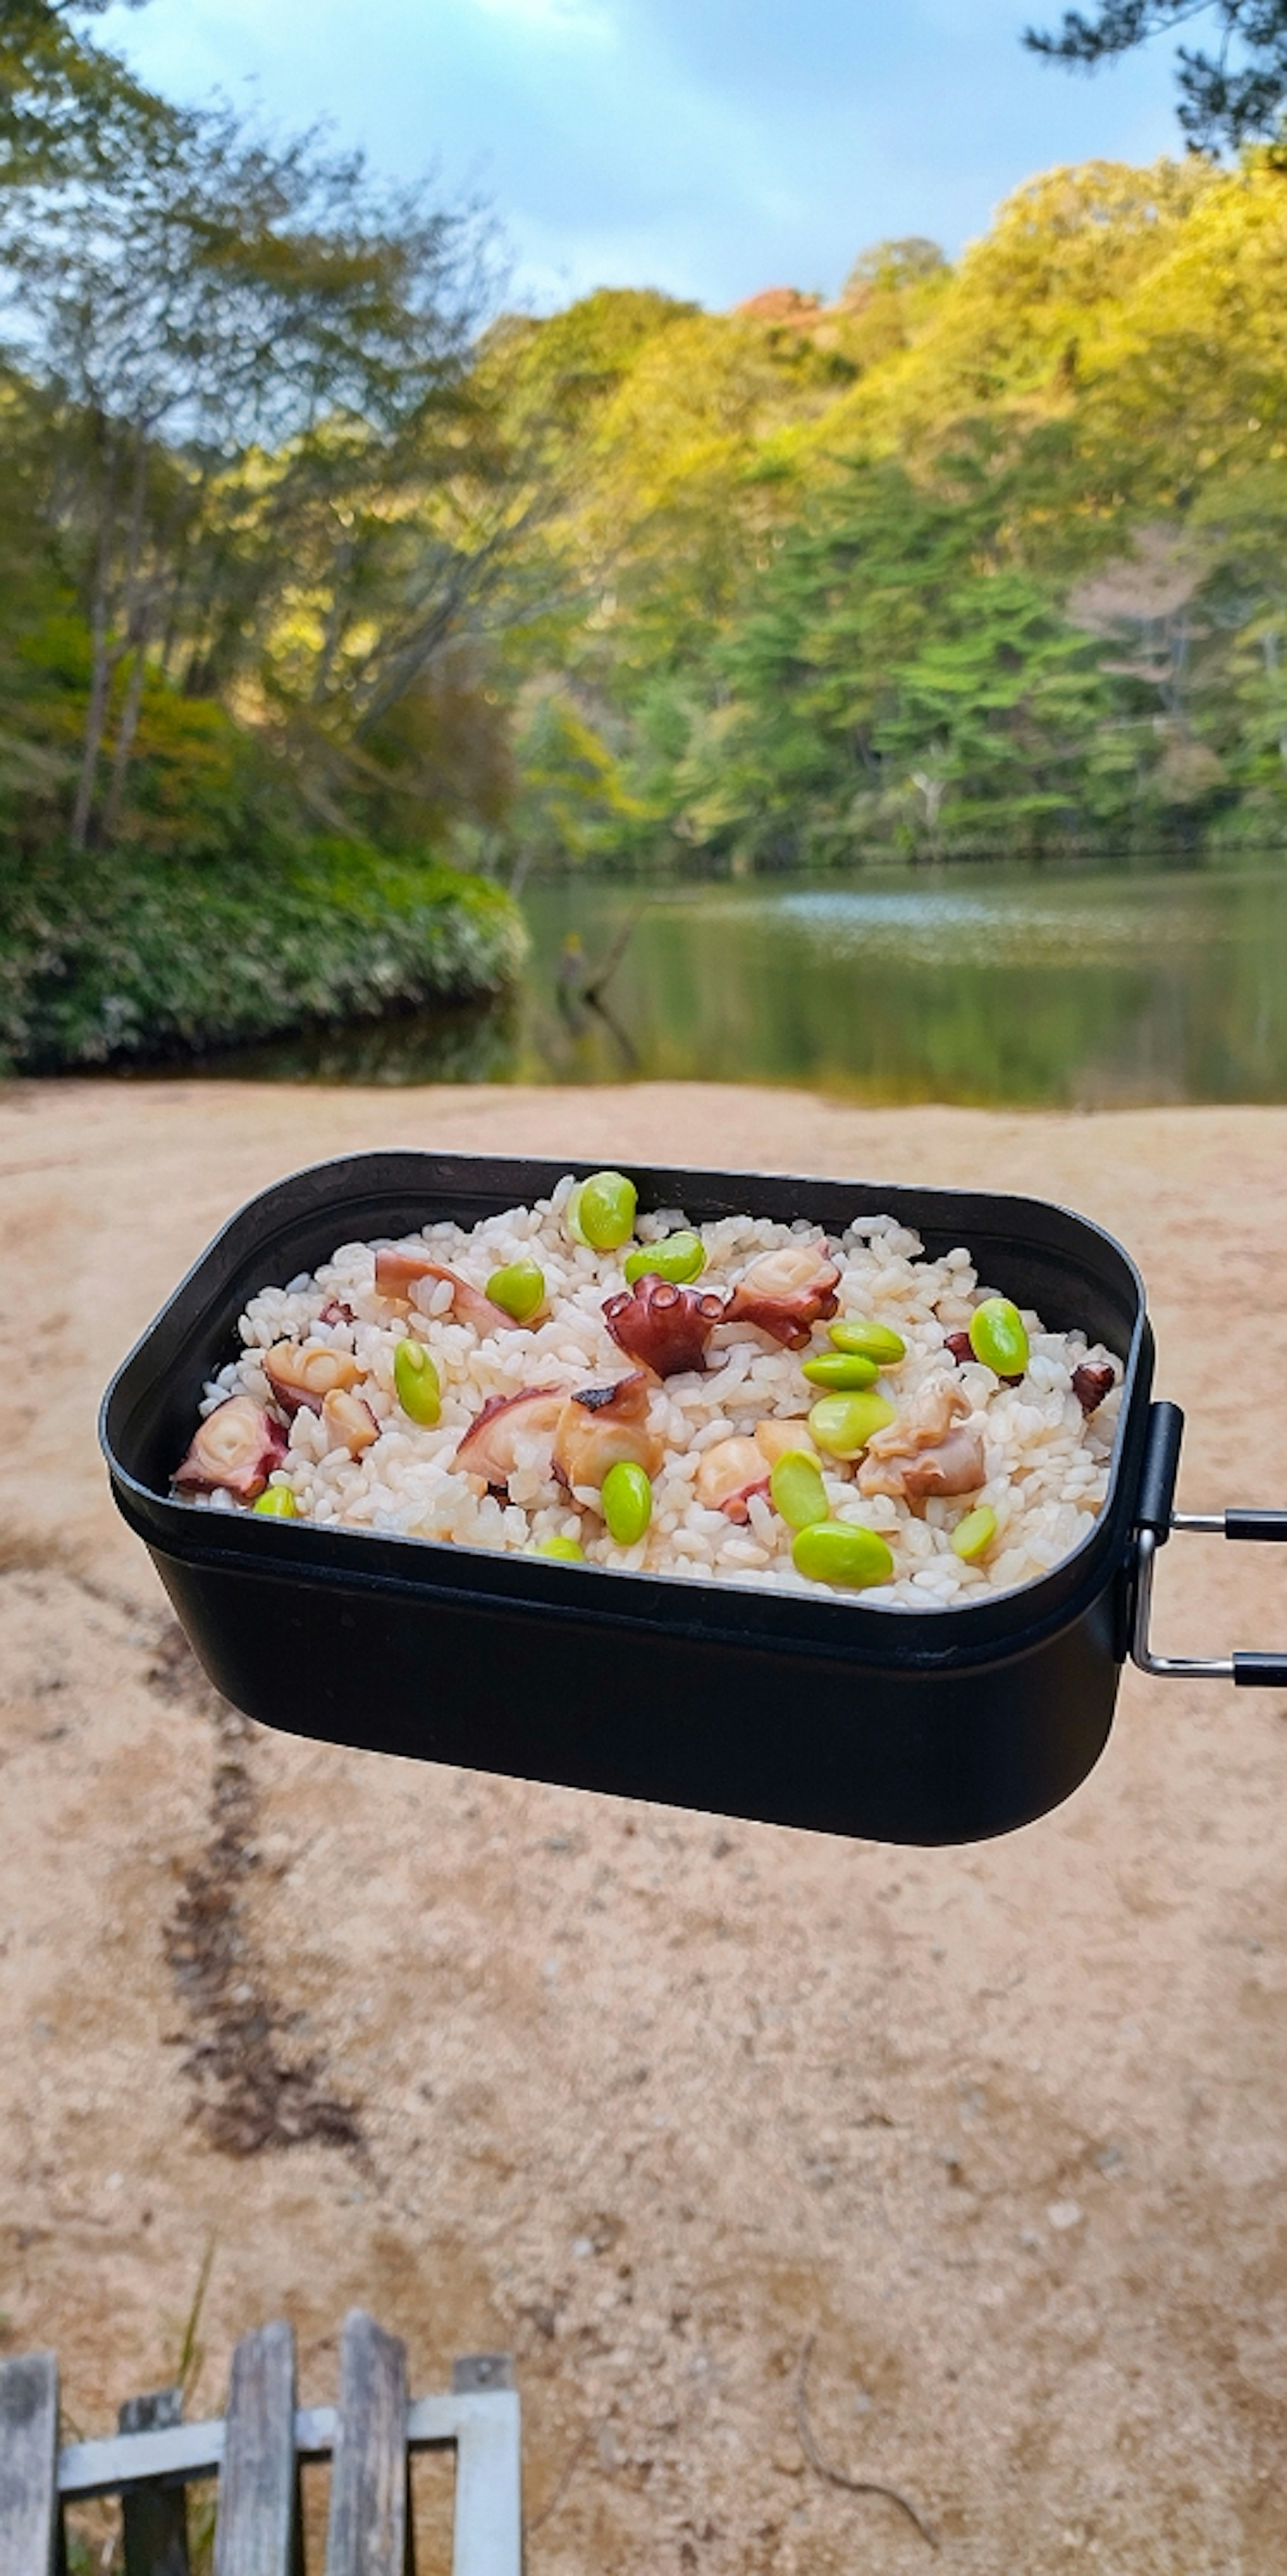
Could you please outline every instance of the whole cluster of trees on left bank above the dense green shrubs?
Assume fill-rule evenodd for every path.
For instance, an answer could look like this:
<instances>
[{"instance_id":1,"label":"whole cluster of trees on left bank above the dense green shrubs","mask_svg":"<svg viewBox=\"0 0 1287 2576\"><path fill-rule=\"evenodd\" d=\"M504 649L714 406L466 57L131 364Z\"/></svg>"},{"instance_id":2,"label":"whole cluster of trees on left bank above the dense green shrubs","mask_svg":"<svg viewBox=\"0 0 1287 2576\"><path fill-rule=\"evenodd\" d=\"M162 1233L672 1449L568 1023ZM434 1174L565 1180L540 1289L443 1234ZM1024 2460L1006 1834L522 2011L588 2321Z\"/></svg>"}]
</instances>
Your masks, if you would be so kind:
<instances>
[{"instance_id":1,"label":"whole cluster of trees on left bank above the dense green shrubs","mask_svg":"<svg viewBox=\"0 0 1287 2576\"><path fill-rule=\"evenodd\" d=\"M67 781L72 848L201 840L201 775L327 827L402 775L425 837L427 701L505 528L479 219L149 98L51 0L5 13L0 70L15 781Z\"/></svg>"}]
</instances>

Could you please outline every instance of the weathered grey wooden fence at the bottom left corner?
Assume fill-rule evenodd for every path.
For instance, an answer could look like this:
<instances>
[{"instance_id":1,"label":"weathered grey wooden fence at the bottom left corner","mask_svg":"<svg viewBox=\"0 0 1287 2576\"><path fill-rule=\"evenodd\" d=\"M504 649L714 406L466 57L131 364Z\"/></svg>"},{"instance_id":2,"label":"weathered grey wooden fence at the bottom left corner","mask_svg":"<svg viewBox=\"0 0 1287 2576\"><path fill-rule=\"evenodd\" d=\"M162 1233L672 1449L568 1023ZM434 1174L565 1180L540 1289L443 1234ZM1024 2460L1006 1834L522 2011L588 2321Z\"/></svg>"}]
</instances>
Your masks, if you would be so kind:
<instances>
[{"instance_id":1,"label":"weathered grey wooden fence at the bottom left corner","mask_svg":"<svg viewBox=\"0 0 1287 2576\"><path fill-rule=\"evenodd\" d=\"M453 2576L520 2576L520 2411L505 2354L407 2401L407 2349L360 2308L340 2342L340 2403L296 2406L291 2326L232 2354L229 2411L183 2424L180 2393L129 2398L121 2432L59 2450L51 2352L0 2362L0 2576L62 2576L62 2509L121 2496L126 2576L188 2576L183 2488L219 2478L214 2576L304 2576L299 2470L332 2463L324 2576L414 2576L409 2455L456 2452Z\"/></svg>"}]
</instances>

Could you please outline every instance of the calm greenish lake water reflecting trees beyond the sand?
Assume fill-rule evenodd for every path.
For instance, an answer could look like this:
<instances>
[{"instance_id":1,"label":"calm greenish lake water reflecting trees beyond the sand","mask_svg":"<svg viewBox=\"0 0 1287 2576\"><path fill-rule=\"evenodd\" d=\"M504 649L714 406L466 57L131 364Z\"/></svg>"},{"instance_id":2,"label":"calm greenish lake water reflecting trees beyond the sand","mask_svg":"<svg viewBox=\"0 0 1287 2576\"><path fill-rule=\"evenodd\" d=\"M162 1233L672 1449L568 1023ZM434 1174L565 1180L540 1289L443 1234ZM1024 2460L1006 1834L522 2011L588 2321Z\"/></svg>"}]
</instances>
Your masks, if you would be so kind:
<instances>
[{"instance_id":1,"label":"calm greenish lake water reflecting trees beyond the sand","mask_svg":"<svg viewBox=\"0 0 1287 2576\"><path fill-rule=\"evenodd\" d=\"M208 1069L790 1082L1066 1108L1287 1100L1287 858L569 881L528 889L525 912L525 989L499 1010L319 1033Z\"/></svg>"}]
</instances>

